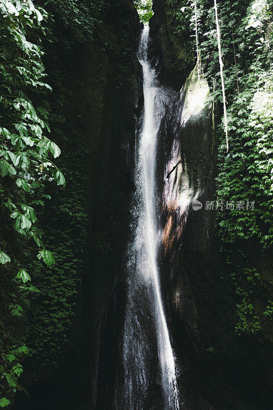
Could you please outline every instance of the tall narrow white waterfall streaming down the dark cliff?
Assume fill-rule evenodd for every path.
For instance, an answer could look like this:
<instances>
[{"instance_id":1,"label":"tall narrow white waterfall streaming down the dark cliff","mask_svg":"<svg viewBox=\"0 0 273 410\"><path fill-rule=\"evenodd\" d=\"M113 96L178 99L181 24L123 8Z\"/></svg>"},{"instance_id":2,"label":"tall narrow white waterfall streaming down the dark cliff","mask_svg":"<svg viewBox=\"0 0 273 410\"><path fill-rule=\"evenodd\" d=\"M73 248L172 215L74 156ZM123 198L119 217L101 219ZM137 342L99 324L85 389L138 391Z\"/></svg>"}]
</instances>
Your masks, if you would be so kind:
<instances>
[{"instance_id":1,"label":"tall narrow white waterfall streaming down the dark cliff","mask_svg":"<svg viewBox=\"0 0 273 410\"><path fill-rule=\"evenodd\" d=\"M139 301L146 292L155 328L161 390L165 410L178 410L175 360L160 291L157 254L160 243L156 206L156 149L160 120L168 103L167 92L160 87L148 59L149 26L141 34L138 59L143 69L144 114L136 150L136 188L139 196L135 238L130 249L128 306L125 316L123 361L127 408L142 410L150 380L146 317ZM143 291L145 289L145 291ZM144 303L143 303L144 305ZM146 325L147 326L147 325ZM149 327L149 324L148 324Z\"/></svg>"}]
</instances>

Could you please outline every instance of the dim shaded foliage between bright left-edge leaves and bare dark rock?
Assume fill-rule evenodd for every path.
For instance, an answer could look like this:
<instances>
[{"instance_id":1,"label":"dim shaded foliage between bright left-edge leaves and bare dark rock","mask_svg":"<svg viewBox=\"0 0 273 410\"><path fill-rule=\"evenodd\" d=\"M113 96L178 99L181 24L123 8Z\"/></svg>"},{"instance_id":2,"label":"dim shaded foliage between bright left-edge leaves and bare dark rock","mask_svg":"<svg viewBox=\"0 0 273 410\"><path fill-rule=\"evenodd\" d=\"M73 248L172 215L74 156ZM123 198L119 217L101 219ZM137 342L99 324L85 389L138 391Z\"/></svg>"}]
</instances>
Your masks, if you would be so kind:
<instances>
[{"instance_id":1,"label":"dim shaded foliage between bright left-edge leaves and bare dark rock","mask_svg":"<svg viewBox=\"0 0 273 410\"><path fill-rule=\"evenodd\" d=\"M48 192L52 200L37 204L36 216L39 228L44 231L44 245L46 250L54 249L52 256L55 263L45 267L40 261L33 260L30 250L27 252L31 261L28 272L39 290L33 286L34 289L28 295L31 309L27 342L31 356L25 366L27 379L61 377L64 362L72 365L73 360L76 361L75 357L70 357L70 349L79 338L78 334L75 335L75 314L80 297L80 281L86 272L87 213L90 207L88 191L90 173L94 173L92 156L100 145L100 134L94 121L92 123L89 119L94 117L93 107L99 111L96 111L96 116L102 118L103 115L98 103L92 103L90 107L90 100L94 101L94 95L95 100L96 97L103 100L102 88L107 78L102 74L101 83L98 71L105 71L105 65L110 61L108 75L113 75L115 88L116 84L120 84L114 83L116 72L122 76L128 70L127 61L132 52L130 41L133 42L134 34L131 34L131 25L124 23L121 13L126 16L131 13L134 19L135 13L131 7L125 9L124 6L129 7L130 4L128 6L124 0L93 0L85 8L82 2L62 0L45 5L50 18L49 32L43 38L44 62L53 92L45 96L43 105L47 107L50 129L62 152L61 166L67 184L59 195L58 187L47 182L41 195ZM110 24L109 15L115 16L111 20L115 26ZM90 54L86 54L86 50ZM96 61L93 51L96 53L97 50L99 65L94 63L94 68L90 68L90 60ZM79 51L87 68L78 66L81 63L75 55ZM75 71L80 71L83 78L80 76L75 79ZM85 84L86 71L90 84ZM90 80L91 72L94 74ZM112 85L110 82L108 84ZM56 177L58 182L58 177L61 177L58 174ZM98 237L95 246L104 254L112 252L104 237ZM47 254L44 256L47 261Z\"/></svg>"}]
</instances>

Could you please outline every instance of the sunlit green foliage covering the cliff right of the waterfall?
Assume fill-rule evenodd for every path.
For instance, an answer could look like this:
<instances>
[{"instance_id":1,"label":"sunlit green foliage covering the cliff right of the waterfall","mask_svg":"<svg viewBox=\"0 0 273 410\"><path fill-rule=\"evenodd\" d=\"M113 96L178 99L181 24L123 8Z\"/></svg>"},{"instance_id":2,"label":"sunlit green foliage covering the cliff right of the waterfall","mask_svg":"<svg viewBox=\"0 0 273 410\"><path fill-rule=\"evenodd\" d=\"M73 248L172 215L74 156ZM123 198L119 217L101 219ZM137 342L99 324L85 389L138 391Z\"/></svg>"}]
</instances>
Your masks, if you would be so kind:
<instances>
[{"instance_id":1,"label":"sunlit green foliage covering the cliff right of the waterfall","mask_svg":"<svg viewBox=\"0 0 273 410\"><path fill-rule=\"evenodd\" d=\"M185 27L190 26L194 51L194 2L168 3L175 8L176 36L182 37ZM217 213L218 235L238 297L236 332L255 333L267 317L270 288L258 255L266 259L273 244L272 4L267 0L217 3L230 146L226 154L223 120L218 121L217 199L224 204L244 203L234 211ZM214 5L207 0L197 0L196 5L201 68L211 86L215 116L219 117L223 100ZM254 209L247 207L250 202L255 202Z\"/></svg>"}]
</instances>

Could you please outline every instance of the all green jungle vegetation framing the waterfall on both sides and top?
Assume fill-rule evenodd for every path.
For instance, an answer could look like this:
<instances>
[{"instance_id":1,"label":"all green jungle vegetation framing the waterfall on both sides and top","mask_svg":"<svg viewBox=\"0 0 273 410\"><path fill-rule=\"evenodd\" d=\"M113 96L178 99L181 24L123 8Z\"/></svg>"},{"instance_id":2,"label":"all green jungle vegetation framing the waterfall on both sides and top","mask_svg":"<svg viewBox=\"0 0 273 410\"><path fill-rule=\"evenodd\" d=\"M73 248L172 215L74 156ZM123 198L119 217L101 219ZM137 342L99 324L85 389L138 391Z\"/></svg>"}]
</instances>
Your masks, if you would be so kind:
<instances>
[{"instance_id":1,"label":"all green jungle vegetation framing the waterfall on both sides and top","mask_svg":"<svg viewBox=\"0 0 273 410\"><path fill-rule=\"evenodd\" d=\"M152 0L134 3L141 22L148 24ZM269 0L218 0L217 4L228 152L214 4L165 0L165 11L178 60L187 33L187 47L195 56L197 40L200 72L211 89L208 103L215 110L219 141L217 234L238 296L234 332L241 335L259 332L273 315L272 282L260 263L262 256L270 256L273 245L273 4ZM69 131L64 131L67 78L57 60L46 72L45 59L58 42L60 49L71 51L72 35L90 36L114 55L111 38L100 31L101 15L108 12L108 2L98 0L89 7L80 0L0 1L3 408L12 404L18 390L28 394L21 382L26 357L35 380L58 367L68 343L77 274L83 269L82 243L87 240L82 187L88 183L88 149L84 141L77 154L69 146ZM71 169L69 162L74 159ZM73 178L76 182L66 193L66 183ZM226 203L234 204L232 212ZM247 208L247 203L255 203L254 208ZM61 218L66 228L60 233L54 224ZM73 244L77 231L81 234ZM249 243L255 255L249 253Z\"/></svg>"}]
</instances>

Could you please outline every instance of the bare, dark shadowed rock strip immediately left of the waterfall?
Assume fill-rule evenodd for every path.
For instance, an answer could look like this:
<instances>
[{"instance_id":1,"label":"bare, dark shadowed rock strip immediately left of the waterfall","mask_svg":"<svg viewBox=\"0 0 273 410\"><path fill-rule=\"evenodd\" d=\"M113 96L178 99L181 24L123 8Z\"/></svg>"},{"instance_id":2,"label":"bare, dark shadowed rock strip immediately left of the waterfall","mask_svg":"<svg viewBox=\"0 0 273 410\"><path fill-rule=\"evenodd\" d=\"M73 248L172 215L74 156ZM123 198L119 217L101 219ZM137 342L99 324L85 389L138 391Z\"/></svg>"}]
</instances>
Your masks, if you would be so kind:
<instances>
[{"instance_id":1,"label":"bare, dark shadowed rock strip immediately left of the waterfall","mask_svg":"<svg viewBox=\"0 0 273 410\"><path fill-rule=\"evenodd\" d=\"M116 408L115 375L121 360L126 297L123 264L131 234L136 121L143 104L142 73L136 59L140 25L133 2L126 2L122 13L120 24L125 25L127 37L117 41L128 42L130 55L124 58L118 51L114 70L113 61L107 63L103 106L98 107L101 145L91 182L90 265L83 278L86 350L90 352L88 408L96 410Z\"/></svg>"}]
</instances>

